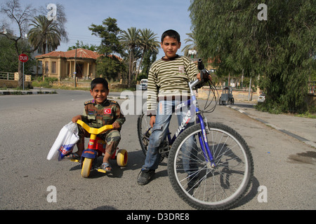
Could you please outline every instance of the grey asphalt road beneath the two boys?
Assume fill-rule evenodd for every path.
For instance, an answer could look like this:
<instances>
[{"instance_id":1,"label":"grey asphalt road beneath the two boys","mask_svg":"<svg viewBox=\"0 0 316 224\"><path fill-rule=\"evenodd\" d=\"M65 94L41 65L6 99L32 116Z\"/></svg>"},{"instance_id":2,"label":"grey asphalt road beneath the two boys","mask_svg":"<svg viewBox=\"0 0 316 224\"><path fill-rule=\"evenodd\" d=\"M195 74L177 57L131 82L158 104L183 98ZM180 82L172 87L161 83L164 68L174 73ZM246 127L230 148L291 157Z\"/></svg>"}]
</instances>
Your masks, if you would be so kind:
<instances>
[{"instance_id":1,"label":"grey asphalt road beneath the two boys","mask_svg":"<svg viewBox=\"0 0 316 224\"><path fill-rule=\"evenodd\" d=\"M145 159L138 144L136 115L126 113L121 130L119 148L129 152L129 163L121 168L112 161L112 174L92 172L84 179L77 163L46 160L60 129L82 113L89 99L89 92L67 90L0 96L0 209L192 210L171 188L166 159L149 184L136 183ZM134 113L142 105L139 101L132 108L129 100L116 100ZM233 209L316 209L315 164L290 159L315 148L226 106L217 106L206 117L237 130L254 157L254 182ZM56 197L50 197L51 189Z\"/></svg>"}]
</instances>

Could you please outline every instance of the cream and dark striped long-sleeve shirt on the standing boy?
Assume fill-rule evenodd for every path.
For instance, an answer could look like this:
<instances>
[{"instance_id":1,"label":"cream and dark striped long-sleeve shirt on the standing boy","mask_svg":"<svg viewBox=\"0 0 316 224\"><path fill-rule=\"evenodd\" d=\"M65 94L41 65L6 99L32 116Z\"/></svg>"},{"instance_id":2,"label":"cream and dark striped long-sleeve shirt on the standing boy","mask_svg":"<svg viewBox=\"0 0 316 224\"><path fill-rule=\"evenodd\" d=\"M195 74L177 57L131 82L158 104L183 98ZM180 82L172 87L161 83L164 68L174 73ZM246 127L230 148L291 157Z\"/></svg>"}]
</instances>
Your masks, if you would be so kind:
<instances>
[{"instance_id":1,"label":"cream and dark striped long-sleeve shirt on the standing boy","mask_svg":"<svg viewBox=\"0 0 316 224\"><path fill-rule=\"evenodd\" d=\"M188 83L197 79L199 70L185 56L172 59L159 59L152 64L148 75L147 87L147 116L155 115L157 100L165 97L190 97Z\"/></svg>"}]
</instances>

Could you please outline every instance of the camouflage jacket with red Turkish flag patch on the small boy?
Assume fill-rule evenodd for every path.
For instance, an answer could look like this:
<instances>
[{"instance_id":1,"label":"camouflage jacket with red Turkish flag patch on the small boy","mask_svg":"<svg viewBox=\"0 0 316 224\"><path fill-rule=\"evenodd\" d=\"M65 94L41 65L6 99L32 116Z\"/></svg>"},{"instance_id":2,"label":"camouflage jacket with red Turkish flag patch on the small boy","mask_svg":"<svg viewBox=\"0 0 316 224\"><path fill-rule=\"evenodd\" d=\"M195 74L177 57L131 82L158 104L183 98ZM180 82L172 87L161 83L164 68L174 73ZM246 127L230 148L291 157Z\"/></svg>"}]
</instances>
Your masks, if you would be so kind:
<instances>
[{"instance_id":1,"label":"camouflage jacket with red Turkish flag patch on the small boy","mask_svg":"<svg viewBox=\"0 0 316 224\"><path fill-rule=\"evenodd\" d=\"M90 127L96 128L112 125L114 122L123 125L125 122L119 103L109 99L105 100L103 104L96 104L94 99L85 102L82 120Z\"/></svg>"}]
</instances>

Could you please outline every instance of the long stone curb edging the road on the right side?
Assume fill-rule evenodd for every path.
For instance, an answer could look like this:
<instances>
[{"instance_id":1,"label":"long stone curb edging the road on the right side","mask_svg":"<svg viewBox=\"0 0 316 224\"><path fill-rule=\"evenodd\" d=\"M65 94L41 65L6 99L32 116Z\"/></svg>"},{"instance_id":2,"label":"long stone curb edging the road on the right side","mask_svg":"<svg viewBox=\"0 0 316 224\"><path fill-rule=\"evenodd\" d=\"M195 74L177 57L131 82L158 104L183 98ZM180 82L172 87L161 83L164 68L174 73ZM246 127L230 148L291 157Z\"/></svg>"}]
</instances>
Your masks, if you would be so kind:
<instances>
[{"instance_id":1,"label":"long stone curb edging the road on the right side","mask_svg":"<svg viewBox=\"0 0 316 224\"><path fill-rule=\"evenodd\" d=\"M313 141L310 141L308 139L305 139L303 137L298 136L297 134L294 134L292 132L289 132L288 130L284 130L281 127L278 127L277 125L271 124L266 122L265 120L262 120L261 118L257 118L256 116L251 116L249 113L246 113L246 111L239 109L237 106L231 106L231 105L226 105L228 108L233 109L235 111L238 111L239 113L244 113L244 115L249 116L249 118L252 118L254 120L258 120L259 122L268 125L272 128L274 128L275 130L278 130L279 132L282 132L284 134L289 135L290 137L294 137L295 139L297 139L298 141L303 141L305 144L308 144L309 146L312 146L314 148L316 148L316 144Z\"/></svg>"}]
</instances>

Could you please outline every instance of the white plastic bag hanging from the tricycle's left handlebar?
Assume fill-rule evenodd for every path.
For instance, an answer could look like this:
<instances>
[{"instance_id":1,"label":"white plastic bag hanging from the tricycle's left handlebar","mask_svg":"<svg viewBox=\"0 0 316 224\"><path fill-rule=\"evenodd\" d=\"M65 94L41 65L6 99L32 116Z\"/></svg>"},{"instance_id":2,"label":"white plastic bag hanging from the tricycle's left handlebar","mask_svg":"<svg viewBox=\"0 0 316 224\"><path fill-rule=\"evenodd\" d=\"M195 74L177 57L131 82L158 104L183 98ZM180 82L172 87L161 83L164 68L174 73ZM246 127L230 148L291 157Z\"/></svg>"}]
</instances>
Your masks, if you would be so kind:
<instances>
[{"instance_id":1,"label":"white plastic bag hanging from the tricycle's left handlebar","mask_svg":"<svg viewBox=\"0 0 316 224\"><path fill-rule=\"evenodd\" d=\"M78 140L77 123L68 123L60 130L57 139L47 155L47 160L62 160L65 158L65 155L72 152Z\"/></svg>"}]
</instances>

